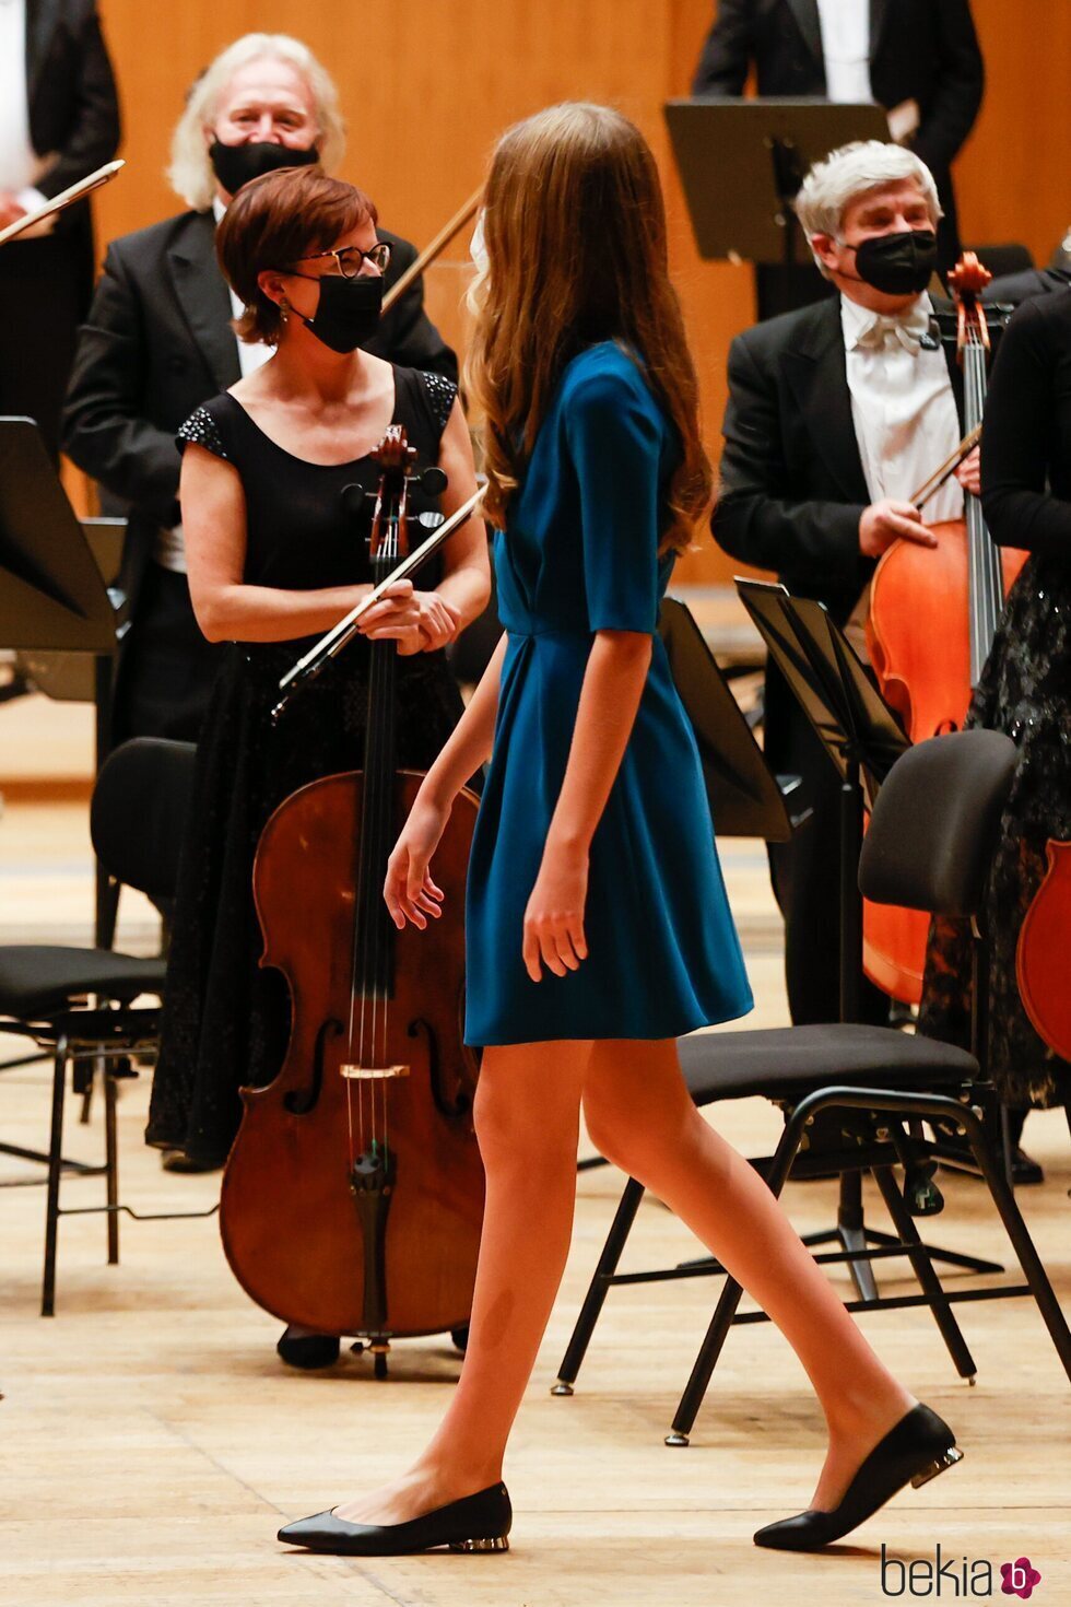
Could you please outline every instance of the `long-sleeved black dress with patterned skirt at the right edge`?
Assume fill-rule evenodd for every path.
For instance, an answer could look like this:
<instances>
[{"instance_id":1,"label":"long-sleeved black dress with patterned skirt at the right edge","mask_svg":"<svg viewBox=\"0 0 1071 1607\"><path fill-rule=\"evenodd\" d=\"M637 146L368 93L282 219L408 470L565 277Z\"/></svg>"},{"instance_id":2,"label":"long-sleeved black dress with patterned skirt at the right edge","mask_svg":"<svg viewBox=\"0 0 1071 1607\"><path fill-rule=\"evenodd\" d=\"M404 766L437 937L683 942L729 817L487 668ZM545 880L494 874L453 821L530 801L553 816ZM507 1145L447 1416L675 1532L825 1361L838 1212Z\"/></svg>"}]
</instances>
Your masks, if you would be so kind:
<instances>
[{"instance_id":1,"label":"long-sleeved black dress with patterned skirt at the right edge","mask_svg":"<svg viewBox=\"0 0 1071 1607\"><path fill-rule=\"evenodd\" d=\"M992 945L989 1067L1013 1109L1071 1102L1071 1065L1037 1037L1015 951L1050 837L1071 839L1071 289L1024 302L997 354L981 439L983 505L1005 546L1031 556L1008 595L967 723L1020 747L983 919ZM970 1041L970 942L939 919L920 1030Z\"/></svg>"}]
</instances>

